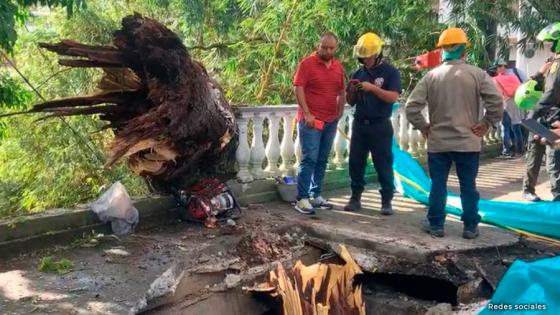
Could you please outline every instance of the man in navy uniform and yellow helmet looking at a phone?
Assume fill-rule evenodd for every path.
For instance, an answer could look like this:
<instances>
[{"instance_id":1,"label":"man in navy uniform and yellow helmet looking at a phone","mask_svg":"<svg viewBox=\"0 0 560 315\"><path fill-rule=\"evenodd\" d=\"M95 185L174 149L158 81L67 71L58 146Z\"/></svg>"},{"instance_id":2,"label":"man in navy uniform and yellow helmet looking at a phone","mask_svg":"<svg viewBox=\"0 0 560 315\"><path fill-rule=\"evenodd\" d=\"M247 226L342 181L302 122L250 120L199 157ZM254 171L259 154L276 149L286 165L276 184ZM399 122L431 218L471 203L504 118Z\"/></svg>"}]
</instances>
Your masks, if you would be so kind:
<instances>
[{"instance_id":1,"label":"man in navy uniform and yellow helmet looking at a phone","mask_svg":"<svg viewBox=\"0 0 560 315\"><path fill-rule=\"evenodd\" d=\"M350 141L350 179L352 196L346 211L361 208L368 154L381 184L381 214L391 215L393 181L393 127L391 109L401 93L399 71L383 60L383 41L374 33L362 35L354 46L354 57L363 65L348 86L347 101L356 106Z\"/></svg>"}]
</instances>

